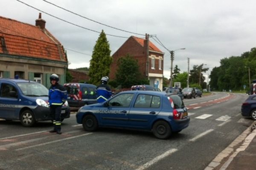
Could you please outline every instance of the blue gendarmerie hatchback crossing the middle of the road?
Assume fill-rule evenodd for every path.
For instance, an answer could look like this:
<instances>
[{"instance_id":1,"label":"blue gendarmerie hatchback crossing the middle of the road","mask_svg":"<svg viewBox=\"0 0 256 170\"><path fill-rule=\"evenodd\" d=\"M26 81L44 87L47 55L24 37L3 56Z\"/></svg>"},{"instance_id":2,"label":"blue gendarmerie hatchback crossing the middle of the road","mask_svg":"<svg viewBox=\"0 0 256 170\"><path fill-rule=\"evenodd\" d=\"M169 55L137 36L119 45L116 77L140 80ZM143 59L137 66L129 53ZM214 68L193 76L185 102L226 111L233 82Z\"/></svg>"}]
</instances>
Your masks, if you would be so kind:
<instances>
[{"instance_id":1,"label":"blue gendarmerie hatchback crossing the middle of the road","mask_svg":"<svg viewBox=\"0 0 256 170\"><path fill-rule=\"evenodd\" d=\"M155 91L124 91L104 103L81 107L77 123L84 130L117 127L152 131L159 139L189 126L189 116L177 95L166 96Z\"/></svg>"}]
</instances>

